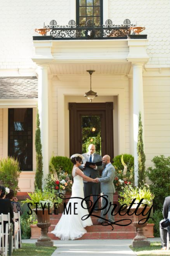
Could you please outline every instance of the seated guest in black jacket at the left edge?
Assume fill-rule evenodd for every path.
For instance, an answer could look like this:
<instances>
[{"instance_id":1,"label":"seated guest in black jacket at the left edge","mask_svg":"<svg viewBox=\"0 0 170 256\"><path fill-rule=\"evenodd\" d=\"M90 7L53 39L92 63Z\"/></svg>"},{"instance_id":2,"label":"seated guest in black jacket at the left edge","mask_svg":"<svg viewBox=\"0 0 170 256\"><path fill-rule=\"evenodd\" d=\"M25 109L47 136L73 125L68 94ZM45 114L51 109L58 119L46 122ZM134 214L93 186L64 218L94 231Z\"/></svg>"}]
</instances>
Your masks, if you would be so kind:
<instances>
[{"instance_id":1,"label":"seated guest in black jacket at the left edge","mask_svg":"<svg viewBox=\"0 0 170 256\"><path fill-rule=\"evenodd\" d=\"M13 207L12 207L12 203L9 199L5 199L5 196L8 192L9 188L5 188L3 186L0 186L0 214L8 214L8 212L10 213L10 222L12 224L14 224L13 222L13 217L14 217L14 213L13 213ZM6 228L6 223L8 223L8 221L4 221L4 232L5 232L5 228Z\"/></svg>"}]
</instances>

